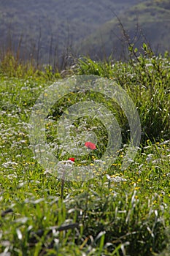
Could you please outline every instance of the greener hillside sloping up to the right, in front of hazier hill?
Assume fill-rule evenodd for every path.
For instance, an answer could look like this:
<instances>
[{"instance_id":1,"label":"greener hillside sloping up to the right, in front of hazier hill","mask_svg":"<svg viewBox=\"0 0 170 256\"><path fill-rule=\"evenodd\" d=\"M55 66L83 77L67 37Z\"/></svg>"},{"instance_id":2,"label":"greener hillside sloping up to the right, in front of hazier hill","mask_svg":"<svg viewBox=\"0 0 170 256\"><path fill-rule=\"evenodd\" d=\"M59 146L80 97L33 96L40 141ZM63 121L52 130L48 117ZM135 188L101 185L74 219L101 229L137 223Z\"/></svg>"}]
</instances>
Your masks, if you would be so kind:
<instances>
[{"instance_id":1,"label":"greener hillside sloping up to the right, in front of hazier hill","mask_svg":"<svg viewBox=\"0 0 170 256\"><path fill-rule=\"evenodd\" d=\"M170 2L143 1L109 20L96 33L87 37L82 42L80 52L90 56L95 53L100 57L113 53L115 58L121 59L121 53L125 50L125 37L119 20L128 32L129 42L136 47L139 48L145 41L155 52L170 50Z\"/></svg>"}]
</instances>

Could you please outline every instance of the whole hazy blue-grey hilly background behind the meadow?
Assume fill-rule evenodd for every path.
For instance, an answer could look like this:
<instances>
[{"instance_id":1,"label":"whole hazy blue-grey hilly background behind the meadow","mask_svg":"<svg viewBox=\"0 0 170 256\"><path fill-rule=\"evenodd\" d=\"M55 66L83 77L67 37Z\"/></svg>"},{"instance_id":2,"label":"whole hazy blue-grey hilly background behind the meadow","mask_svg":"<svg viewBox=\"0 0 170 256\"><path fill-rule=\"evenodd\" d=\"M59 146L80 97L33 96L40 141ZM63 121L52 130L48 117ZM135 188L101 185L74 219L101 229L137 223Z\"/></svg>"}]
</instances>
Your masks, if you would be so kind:
<instances>
[{"instance_id":1,"label":"whole hazy blue-grey hilly background behind the meadow","mask_svg":"<svg viewBox=\"0 0 170 256\"><path fill-rule=\"evenodd\" d=\"M1 0L0 50L58 65L73 54L122 59L125 34L137 47L146 39L156 53L169 50L169 0Z\"/></svg>"}]
</instances>

